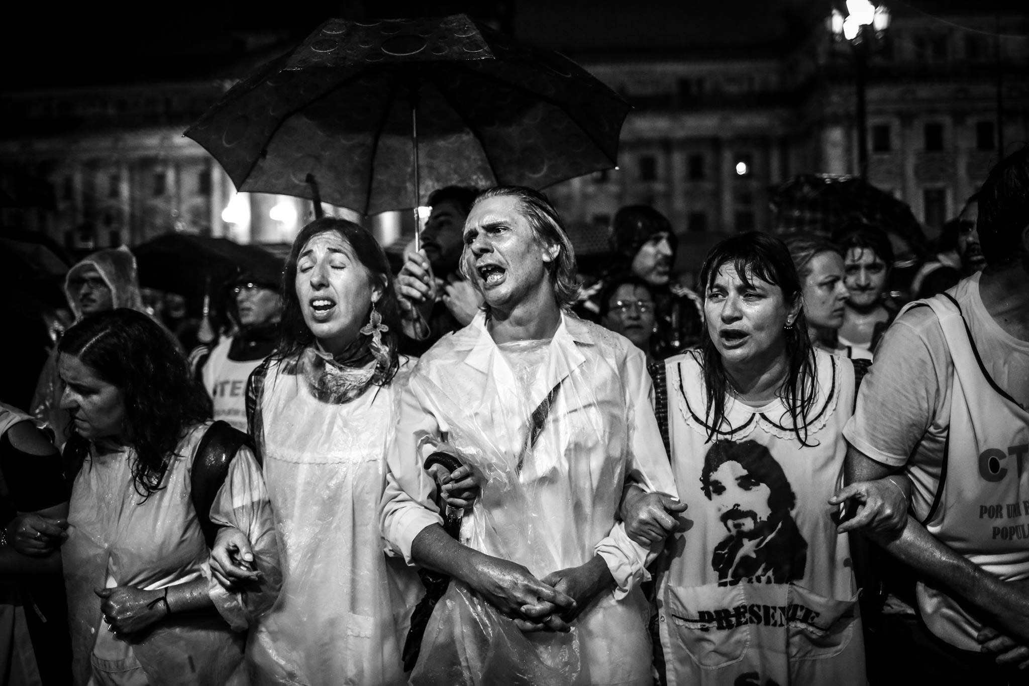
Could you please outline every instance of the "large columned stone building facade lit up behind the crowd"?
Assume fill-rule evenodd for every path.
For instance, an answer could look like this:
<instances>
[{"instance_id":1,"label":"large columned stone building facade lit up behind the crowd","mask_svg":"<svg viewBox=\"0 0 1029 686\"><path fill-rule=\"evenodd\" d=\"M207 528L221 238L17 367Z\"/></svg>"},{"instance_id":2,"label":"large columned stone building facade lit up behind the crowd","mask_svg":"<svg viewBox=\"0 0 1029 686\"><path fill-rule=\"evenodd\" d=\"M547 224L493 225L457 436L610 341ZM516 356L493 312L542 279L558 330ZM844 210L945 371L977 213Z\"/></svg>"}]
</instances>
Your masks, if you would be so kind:
<instances>
[{"instance_id":1,"label":"large columned stone building facade lit up behind the crowd","mask_svg":"<svg viewBox=\"0 0 1029 686\"><path fill-rule=\"evenodd\" d=\"M1029 20L894 12L868 60L868 180L909 203L930 234L1000 158L1029 140ZM771 230L769 198L795 174L856 174L854 56L824 25L765 56L570 53L634 105L618 168L547 189L571 223L605 231L652 205L678 232ZM235 198L182 132L232 80L0 94L0 221L72 249L179 230L282 243L310 203ZM998 105L999 111L998 115ZM234 200L235 198L235 200ZM413 221L374 222L392 242Z\"/></svg>"}]
</instances>

